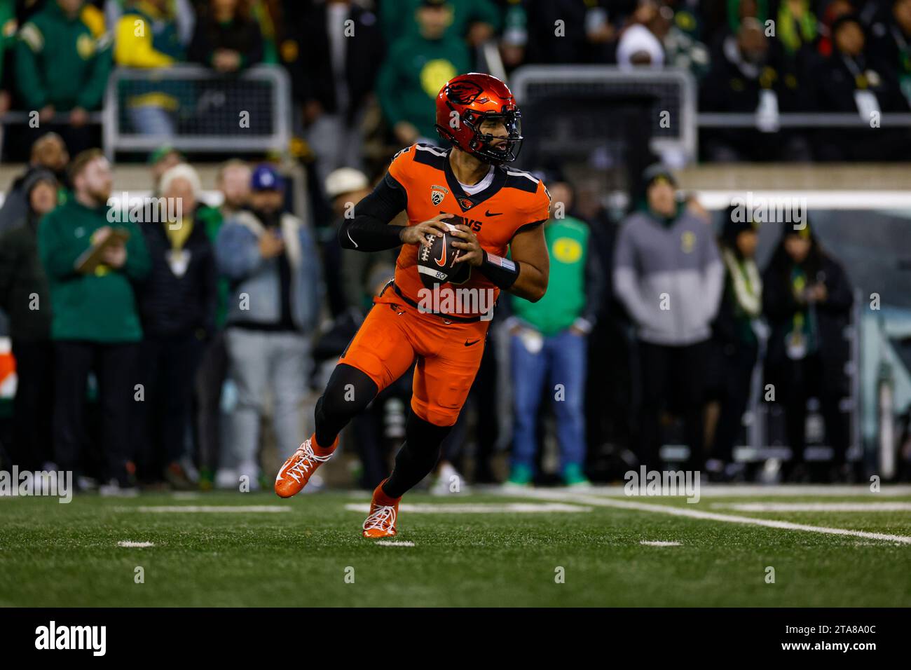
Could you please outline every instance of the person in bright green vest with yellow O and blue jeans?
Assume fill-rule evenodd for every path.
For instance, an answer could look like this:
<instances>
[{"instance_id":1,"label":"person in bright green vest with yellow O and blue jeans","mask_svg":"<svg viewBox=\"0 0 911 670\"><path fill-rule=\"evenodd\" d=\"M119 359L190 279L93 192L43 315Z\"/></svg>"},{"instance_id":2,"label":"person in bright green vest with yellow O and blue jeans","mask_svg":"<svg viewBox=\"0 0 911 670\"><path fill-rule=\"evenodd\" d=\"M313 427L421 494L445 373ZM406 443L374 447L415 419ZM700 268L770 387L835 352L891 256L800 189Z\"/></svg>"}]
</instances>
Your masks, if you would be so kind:
<instances>
[{"instance_id":1,"label":"person in bright green vest with yellow O and blue jeans","mask_svg":"<svg viewBox=\"0 0 911 670\"><path fill-rule=\"evenodd\" d=\"M535 478L537 419L541 400L553 401L560 449L560 477L567 486L589 486L585 463L585 377L588 334L603 292L589 226L565 215L572 205L568 183L548 180L550 218L544 235L550 253L548 293L537 303L513 298L511 335L513 451L507 485L529 486Z\"/></svg>"}]
</instances>

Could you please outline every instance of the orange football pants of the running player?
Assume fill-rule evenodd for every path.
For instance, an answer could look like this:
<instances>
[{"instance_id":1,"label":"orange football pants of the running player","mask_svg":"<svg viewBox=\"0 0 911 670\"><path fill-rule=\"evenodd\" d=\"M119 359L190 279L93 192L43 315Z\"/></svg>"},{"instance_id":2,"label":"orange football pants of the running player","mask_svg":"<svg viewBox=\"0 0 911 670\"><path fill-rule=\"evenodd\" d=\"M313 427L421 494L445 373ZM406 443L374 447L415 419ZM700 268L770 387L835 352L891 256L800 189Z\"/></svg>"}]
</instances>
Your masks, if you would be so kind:
<instances>
[{"instance_id":1,"label":"orange football pants of the running player","mask_svg":"<svg viewBox=\"0 0 911 670\"><path fill-rule=\"evenodd\" d=\"M449 322L404 303L387 286L374 298L339 363L356 367L380 391L417 360L411 408L435 426L452 426L484 354L489 321Z\"/></svg>"}]
</instances>

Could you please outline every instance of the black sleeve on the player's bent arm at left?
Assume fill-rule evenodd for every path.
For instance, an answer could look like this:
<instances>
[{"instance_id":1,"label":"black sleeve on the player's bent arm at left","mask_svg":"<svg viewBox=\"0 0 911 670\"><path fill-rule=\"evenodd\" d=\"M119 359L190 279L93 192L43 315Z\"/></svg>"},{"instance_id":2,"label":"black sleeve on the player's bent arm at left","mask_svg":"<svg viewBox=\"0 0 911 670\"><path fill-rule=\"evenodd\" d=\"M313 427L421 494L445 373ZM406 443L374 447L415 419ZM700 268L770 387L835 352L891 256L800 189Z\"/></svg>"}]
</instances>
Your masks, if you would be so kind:
<instances>
[{"instance_id":1,"label":"black sleeve on the player's bent arm at left","mask_svg":"<svg viewBox=\"0 0 911 670\"><path fill-rule=\"evenodd\" d=\"M391 226L395 216L408 203L404 187L386 172L373 192L354 206L354 218L343 219L339 243L343 249L382 252L402 243L402 226Z\"/></svg>"}]
</instances>

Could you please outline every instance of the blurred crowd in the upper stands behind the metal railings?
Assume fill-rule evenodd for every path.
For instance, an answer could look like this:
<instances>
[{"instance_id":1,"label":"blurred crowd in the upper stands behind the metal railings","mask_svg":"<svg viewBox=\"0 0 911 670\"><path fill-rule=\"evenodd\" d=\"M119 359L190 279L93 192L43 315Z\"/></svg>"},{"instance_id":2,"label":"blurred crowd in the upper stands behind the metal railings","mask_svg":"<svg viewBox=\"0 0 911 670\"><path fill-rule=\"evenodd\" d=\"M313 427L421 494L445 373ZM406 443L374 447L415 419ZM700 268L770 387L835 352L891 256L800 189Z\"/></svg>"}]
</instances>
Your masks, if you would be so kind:
<instances>
[{"instance_id":1,"label":"blurred crowd in the upper stands behind the metal railings","mask_svg":"<svg viewBox=\"0 0 911 670\"><path fill-rule=\"evenodd\" d=\"M271 64L288 72L295 129L324 180L363 168L374 131L399 147L435 139L430 101L492 54L506 74L686 68L701 110L756 113L763 126L704 129L708 160L892 160L909 148L896 129L765 139L784 112L909 111L911 0L0 0L0 27L0 115L36 113L74 154L98 144L89 114L112 67L195 63L230 77ZM128 122L173 136L193 104L174 82L143 81ZM25 134L30 146L34 124Z\"/></svg>"}]
</instances>

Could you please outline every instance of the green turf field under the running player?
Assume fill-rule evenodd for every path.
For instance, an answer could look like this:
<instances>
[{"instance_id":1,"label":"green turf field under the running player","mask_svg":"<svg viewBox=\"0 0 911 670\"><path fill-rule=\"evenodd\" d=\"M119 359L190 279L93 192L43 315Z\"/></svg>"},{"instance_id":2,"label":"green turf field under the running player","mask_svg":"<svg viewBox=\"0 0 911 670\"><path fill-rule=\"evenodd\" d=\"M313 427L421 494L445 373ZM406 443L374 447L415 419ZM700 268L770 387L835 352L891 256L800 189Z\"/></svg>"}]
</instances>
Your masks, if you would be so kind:
<instances>
[{"instance_id":1,"label":"green turf field under the running player","mask_svg":"<svg viewBox=\"0 0 911 670\"><path fill-rule=\"evenodd\" d=\"M0 605L911 605L911 489L711 491L703 487L697 504L617 490L446 499L412 493L404 502L422 510L470 507L406 508L399 535L385 546L361 538L364 513L348 509L365 509L366 494L87 494L70 504L4 498ZM897 509L731 507L798 502ZM525 506L503 507L517 503ZM630 503L648 509L622 507ZM156 509L178 506L215 510ZM231 510L253 506L265 510ZM692 518L693 511L726 521ZM897 539L770 528L743 518ZM769 566L774 583L766 582ZM142 583L135 581L138 567Z\"/></svg>"}]
</instances>

